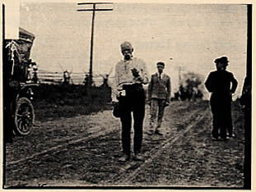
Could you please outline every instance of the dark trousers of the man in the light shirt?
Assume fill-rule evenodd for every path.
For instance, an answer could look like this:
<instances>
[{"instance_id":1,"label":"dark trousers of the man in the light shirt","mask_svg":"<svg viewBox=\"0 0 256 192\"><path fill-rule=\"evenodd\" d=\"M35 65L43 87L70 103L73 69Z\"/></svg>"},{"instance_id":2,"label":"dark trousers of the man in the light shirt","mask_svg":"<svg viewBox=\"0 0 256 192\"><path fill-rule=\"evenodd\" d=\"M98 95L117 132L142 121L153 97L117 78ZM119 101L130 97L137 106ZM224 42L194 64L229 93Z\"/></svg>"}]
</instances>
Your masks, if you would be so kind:
<instances>
[{"instance_id":1,"label":"dark trousers of the man in the light shirt","mask_svg":"<svg viewBox=\"0 0 256 192\"><path fill-rule=\"evenodd\" d=\"M142 148L142 130L145 117L145 92L142 85L123 85L125 96L119 98L122 123L122 147L123 153L130 156L131 153L131 128L133 112L133 151L140 153Z\"/></svg>"}]
</instances>

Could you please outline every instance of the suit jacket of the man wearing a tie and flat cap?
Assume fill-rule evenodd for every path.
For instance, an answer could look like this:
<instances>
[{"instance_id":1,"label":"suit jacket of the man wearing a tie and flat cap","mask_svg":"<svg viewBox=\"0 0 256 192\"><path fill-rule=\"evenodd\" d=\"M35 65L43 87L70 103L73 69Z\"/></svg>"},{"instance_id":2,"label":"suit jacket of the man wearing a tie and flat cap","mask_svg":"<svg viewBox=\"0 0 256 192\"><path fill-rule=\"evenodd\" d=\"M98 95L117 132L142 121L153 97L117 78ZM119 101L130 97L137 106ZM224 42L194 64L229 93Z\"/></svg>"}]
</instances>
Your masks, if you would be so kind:
<instances>
[{"instance_id":1,"label":"suit jacket of the man wearing a tie and flat cap","mask_svg":"<svg viewBox=\"0 0 256 192\"><path fill-rule=\"evenodd\" d=\"M170 77L164 73L161 80L159 80L157 73L151 75L147 95L148 101L150 101L151 98L161 98L170 102Z\"/></svg>"}]
</instances>

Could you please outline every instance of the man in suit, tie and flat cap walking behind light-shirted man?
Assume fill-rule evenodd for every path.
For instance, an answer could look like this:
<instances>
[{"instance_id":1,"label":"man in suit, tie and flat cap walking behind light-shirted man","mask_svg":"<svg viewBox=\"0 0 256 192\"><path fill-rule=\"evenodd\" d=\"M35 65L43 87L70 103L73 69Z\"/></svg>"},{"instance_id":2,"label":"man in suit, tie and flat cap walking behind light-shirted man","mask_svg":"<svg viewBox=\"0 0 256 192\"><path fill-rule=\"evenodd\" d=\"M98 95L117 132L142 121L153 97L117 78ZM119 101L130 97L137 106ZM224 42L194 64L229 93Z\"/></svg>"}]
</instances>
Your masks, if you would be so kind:
<instances>
[{"instance_id":1,"label":"man in suit, tie and flat cap walking behind light-shirted man","mask_svg":"<svg viewBox=\"0 0 256 192\"><path fill-rule=\"evenodd\" d=\"M157 72L151 75L151 81L147 89L147 103L151 106L150 135L163 135L161 133L161 123L164 117L165 107L170 103L170 77L163 71L164 62L157 62ZM157 124L156 113L158 109Z\"/></svg>"}]
</instances>

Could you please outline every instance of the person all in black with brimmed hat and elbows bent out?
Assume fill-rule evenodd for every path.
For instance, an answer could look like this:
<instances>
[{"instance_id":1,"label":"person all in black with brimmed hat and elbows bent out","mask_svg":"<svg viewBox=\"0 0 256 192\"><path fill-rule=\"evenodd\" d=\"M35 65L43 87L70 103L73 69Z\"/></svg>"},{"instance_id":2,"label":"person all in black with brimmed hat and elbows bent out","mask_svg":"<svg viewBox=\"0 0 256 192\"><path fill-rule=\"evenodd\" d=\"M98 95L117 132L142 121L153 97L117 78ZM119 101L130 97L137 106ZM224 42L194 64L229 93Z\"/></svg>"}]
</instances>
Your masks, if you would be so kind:
<instances>
[{"instance_id":1,"label":"person all in black with brimmed hat and elbows bent out","mask_svg":"<svg viewBox=\"0 0 256 192\"><path fill-rule=\"evenodd\" d=\"M237 80L232 73L226 71L229 62L227 57L217 58L214 62L216 71L212 71L205 82L207 90L212 93L210 99L213 116L212 139L219 139L219 130L221 130L221 139L226 140L235 136L231 117L231 102L232 94L237 88Z\"/></svg>"}]
</instances>

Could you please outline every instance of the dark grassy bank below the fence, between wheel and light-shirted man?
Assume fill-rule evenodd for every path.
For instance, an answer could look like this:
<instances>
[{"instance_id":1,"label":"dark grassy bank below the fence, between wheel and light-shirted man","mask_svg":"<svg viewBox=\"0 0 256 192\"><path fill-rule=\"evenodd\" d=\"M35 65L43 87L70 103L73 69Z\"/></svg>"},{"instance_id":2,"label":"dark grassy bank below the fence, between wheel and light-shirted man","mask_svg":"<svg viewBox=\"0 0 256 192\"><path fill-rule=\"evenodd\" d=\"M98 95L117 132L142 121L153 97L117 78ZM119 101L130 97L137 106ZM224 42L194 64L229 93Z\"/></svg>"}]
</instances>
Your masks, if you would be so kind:
<instances>
[{"instance_id":1,"label":"dark grassy bank below the fence, between wheel and light-shirted man","mask_svg":"<svg viewBox=\"0 0 256 192\"><path fill-rule=\"evenodd\" d=\"M109 109L111 89L84 85L39 85L33 89L36 121L76 117Z\"/></svg>"}]
</instances>

